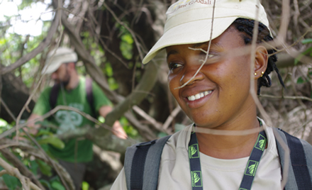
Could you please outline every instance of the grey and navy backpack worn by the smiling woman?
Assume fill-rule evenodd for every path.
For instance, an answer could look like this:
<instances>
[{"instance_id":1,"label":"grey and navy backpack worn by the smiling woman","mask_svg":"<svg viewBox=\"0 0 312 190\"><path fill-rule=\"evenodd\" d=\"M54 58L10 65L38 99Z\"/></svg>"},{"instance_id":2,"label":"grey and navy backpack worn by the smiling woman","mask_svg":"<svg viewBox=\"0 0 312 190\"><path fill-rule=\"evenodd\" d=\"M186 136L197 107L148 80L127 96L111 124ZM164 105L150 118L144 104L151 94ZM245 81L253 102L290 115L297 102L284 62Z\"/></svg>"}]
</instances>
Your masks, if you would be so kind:
<instances>
[{"instance_id":1,"label":"grey and navy backpack worn by the smiling woman","mask_svg":"<svg viewBox=\"0 0 312 190\"><path fill-rule=\"evenodd\" d=\"M299 140L299 138L289 135L281 129L274 128L274 135L279 135L284 143L288 145L290 151L289 155L285 155L281 143L276 140L282 171L284 169L284 161L286 157L289 157L291 162L291 164L289 164L288 179L284 189L311 190L312 179L310 172L312 171L309 171L308 166L312 166L312 160L306 160L306 154L309 154L309 157L312 157L311 145L305 141ZM170 135L158 140L139 143L127 148L124 165L127 189L157 189L162 149L169 138Z\"/></svg>"}]
</instances>

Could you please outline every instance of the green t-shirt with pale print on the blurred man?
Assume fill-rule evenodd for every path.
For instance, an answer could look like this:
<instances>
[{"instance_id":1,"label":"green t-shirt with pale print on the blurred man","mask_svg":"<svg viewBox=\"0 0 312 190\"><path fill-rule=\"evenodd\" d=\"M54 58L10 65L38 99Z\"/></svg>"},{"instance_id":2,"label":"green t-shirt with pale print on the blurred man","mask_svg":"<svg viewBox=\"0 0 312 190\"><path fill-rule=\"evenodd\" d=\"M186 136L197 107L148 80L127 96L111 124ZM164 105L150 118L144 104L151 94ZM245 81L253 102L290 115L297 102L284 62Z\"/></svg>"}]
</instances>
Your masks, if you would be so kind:
<instances>
[{"instance_id":1,"label":"green t-shirt with pale print on the blurred man","mask_svg":"<svg viewBox=\"0 0 312 190\"><path fill-rule=\"evenodd\" d=\"M51 89L52 87L49 87L43 91L35 104L33 113L42 116L51 110L49 102ZM92 82L92 93L94 96L94 108L96 109L96 113L99 113L99 108L101 108L101 106L111 106L111 102L94 82ZM86 79L80 77L79 84L75 89L69 91L60 89L57 96L56 106L57 105L71 106L92 115L93 112L87 100ZM84 118L79 113L67 110L57 111L57 113L52 116L51 122L58 126L57 134L64 133L67 130L75 130L84 125L94 125L94 123ZM88 139L81 140L79 138L65 140L65 147L62 150L49 145L49 151L53 156L67 162L89 162L92 160L93 155L91 141Z\"/></svg>"}]
</instances>

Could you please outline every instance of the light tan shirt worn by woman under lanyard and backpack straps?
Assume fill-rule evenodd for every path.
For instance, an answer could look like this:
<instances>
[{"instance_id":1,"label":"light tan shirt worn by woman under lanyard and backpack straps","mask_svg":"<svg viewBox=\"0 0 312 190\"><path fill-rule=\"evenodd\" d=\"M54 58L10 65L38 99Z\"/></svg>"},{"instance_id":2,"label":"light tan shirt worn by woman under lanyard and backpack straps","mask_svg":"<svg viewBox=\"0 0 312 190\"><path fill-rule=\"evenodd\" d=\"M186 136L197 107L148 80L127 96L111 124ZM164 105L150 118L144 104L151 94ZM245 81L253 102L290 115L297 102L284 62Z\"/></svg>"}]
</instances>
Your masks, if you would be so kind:
<instances>
[{"instance_id":1,"label":"light tan shirt worn by woman under lanyard and backpack straps","mask_svg":"<svg viewBox=\"0 0 312 190\"><path fill-rule=\"evenodd\" d=\"M272 128L265 130L268 146L260 160L252 190L282 189L281 166ZM162 152L158 189L191 189L191 174L187 147L191 126L172 135ZM235 189L240 181L249 157L223 160L200 154L203 189ZM126 177L122 170L111 189L127 189Z\"/></svg>"}]
</instances>

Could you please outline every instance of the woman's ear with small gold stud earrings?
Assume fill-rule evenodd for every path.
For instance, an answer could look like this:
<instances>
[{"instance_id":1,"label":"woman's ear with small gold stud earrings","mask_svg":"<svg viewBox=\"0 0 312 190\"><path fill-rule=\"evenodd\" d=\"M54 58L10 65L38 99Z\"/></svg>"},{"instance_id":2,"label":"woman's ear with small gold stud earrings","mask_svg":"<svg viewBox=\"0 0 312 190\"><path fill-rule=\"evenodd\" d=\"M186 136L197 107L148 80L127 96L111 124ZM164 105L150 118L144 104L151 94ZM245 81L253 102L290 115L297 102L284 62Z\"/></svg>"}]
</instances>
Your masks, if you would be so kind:
<instances>
[{"instance_id":1,"label":"woman's ear with small gold stud earrings","mask_svg":"<svg viewBox=\"0 0 312 190\"><path fill-rule=\"evenodd\" d=\"M262 74L267 69L268 59L269 56L267 55L267 49L262 45L257 46L255 52L255 79L262 77Z\"/></svg>"}]
</instances>

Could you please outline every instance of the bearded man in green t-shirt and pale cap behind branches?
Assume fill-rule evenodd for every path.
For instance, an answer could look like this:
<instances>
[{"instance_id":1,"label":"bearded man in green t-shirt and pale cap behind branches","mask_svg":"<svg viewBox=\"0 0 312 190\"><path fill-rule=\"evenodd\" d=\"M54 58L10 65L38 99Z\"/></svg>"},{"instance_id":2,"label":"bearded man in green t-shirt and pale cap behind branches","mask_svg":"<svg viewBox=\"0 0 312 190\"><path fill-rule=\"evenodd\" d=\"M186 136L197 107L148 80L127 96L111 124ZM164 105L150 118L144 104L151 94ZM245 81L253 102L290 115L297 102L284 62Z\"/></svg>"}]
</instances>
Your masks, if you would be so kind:
<instances>
[{"instance_id":1,"label":"bearded man in green t-shirt and pale cap behind branches","mask_svg":"<svg viewBox=\"0 0 312 190\"><path fill-rule=\"evenodd\" d=\"M88 79L79 76L76 70L76 62L77 54L67 47L59 47L48 54L43 74L51 74L56 86L48 87L40 94L33 113L28 118L30 133L37 133L40 127L31 121L40 118L58 105L77 108L93 117L103 116L105 118L112 110L111 102L99 86L91 81L88 84ZM91 91L91 101L89 100L90 97L87 97L90 96L87 92L88 89ZM53 101L55 102L53 103ZM59 110L50 118L50 121L58 126L55 130L57 134L75 130L84 125L94 125L87 118L74 111ZM118 121L114 123L112 131L118 138L127 138ZM80 189L86 163L90 162L93 156L91 140L72 138L65 140L63 149L49 145L48 150L70 174L75 188Z\"/></svg>"}]
</instances>

